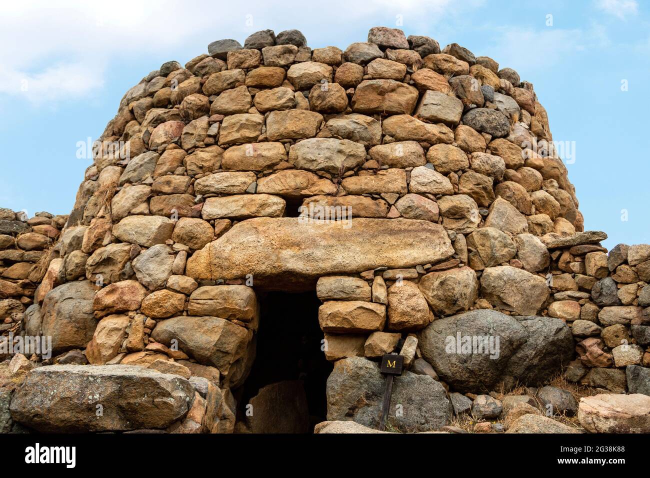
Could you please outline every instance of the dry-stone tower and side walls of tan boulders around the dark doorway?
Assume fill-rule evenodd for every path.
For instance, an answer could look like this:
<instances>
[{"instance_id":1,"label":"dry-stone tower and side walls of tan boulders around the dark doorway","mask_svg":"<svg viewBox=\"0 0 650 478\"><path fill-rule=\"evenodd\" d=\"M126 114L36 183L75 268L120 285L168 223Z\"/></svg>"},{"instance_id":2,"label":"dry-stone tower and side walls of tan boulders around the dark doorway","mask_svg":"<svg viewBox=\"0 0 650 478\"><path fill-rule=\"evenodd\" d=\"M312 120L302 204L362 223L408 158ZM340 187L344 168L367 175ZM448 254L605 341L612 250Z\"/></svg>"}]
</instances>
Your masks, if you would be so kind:
<instances>
[{"instance_id":1,"label":"dry-stone tower and side walls of tan boulders around the dark doorway","mask_svg":"<svg viewBox=\"0 0 650 478\"><path fill-rule=\"evenodd\" d=\"M18 297L23 312L41 280L25 264L43 254L22 244L64 219L14 219L0 221L0 310ZM13 368L59 365L29 375L12 416L64 427L34 409L37 378L83 390L91 364L182 402L140 428L232 432L256 289L322 300L331 420L376 425L377 360L393 351L409 369L396 399L415 397L395 423L408 431L448 423L461 393L567 366L574 382L650 395L650 246L607 254L603 239L584 232L547 113L511 68L385 27L344 51L298 31L218 40L133 86L101 136L22 319L54 355ZM450 354L456 336L499 336L499 357ZM69 431L129 429L119 397L103 400L110 420Z\"/></svg>"}]
</instances>

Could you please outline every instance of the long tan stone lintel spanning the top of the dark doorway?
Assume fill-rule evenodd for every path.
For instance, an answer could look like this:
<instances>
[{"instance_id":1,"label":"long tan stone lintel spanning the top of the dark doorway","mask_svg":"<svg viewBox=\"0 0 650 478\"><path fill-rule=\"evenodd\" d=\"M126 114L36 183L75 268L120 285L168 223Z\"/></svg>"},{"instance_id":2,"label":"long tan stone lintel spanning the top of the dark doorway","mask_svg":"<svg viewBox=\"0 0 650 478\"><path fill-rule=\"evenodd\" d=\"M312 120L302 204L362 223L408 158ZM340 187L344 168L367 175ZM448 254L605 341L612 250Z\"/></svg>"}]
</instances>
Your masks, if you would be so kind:
<instances>
[{"instance_id":1,"label":"long tan stone lintel spanning the top of the dark doorway","mask_svg":"<svg viewBox=\"0 0 650 478\"><path fill-rule=\"evenodd\" d=\"M452 254L443 227L425 220L264 217L235 224L194 253L186 274L196 280L252 274L255 287L309 289L321 276L434 264Z\"/></svg>"}]
</instances>

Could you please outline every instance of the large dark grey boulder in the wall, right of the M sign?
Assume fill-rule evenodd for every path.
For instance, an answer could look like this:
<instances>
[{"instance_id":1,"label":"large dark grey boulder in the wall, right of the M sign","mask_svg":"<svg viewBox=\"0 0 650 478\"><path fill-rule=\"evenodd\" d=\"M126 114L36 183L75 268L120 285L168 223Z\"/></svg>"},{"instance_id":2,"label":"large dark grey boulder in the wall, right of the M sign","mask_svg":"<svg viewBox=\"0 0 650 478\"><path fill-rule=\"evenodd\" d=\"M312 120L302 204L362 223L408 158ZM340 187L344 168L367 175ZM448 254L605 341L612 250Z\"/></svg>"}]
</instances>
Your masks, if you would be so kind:
<instances>
[{"instance_id":1,"label":"large dark grey boulder in the wall, right of the M sign","mask_svg":"<svg viewBox=\"0 0 650 478\"><path fill-rule=\"evenodd\" d=\"M472 341L478 345L486 337L492 347L472 347ZM465 338L469 349L463 347ZM473 310L435 320L418 333L418 339L424 359L459 392L495 390L501 384L509 389L517 382L536 385L573 358L571 330L552 317Z\"/></svg>"}]
</instances>

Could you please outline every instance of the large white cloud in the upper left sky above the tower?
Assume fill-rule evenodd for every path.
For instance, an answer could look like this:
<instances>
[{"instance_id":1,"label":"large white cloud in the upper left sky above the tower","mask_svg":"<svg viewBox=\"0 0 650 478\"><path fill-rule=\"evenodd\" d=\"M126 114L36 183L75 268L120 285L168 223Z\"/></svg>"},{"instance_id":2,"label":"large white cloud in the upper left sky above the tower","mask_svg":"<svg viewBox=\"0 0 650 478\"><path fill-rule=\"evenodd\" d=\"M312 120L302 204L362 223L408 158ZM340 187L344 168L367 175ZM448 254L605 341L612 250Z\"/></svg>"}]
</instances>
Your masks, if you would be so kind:
<instances>
[{"instance_id":1,"label":"large white cloud in the upper left sky above the tower","mask_svg":"<svg viewBox=\"0 0 650 478\"><path fill-rule=\"evenodd\" d=\"M5 46L0 49L0 96L31 101L84 98L98 92L107 67L117 59L164 57L165 50L170 51L166 59L174 59L185 49L198 55L212 40L235 38L243 43L248 34L266 28L276 33L297 28L317 45L341 38L349 34L350 25L363 25L372 18L395 26L402 15L400 27L406 30L423 20L435 24L480 1L458 6L451 0L378 0L357 8L350 8L348 0L309 7L288 0L281 8L267 0L9 2L3 4L0 16L0 44ZM341 21L342 16L346 21ZM323 25L330 26L324 29Z\"/></svg>"}]
</instances>

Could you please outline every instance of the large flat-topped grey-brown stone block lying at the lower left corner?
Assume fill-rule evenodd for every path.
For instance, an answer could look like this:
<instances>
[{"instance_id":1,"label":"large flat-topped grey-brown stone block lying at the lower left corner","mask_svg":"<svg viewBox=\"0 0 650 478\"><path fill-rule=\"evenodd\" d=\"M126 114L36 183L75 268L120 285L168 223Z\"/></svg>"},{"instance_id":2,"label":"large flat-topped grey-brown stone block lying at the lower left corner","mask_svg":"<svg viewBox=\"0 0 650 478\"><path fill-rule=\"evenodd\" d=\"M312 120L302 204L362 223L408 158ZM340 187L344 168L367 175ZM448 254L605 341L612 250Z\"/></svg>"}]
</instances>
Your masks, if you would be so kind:
<instances>
[{"instance_id":1,"label":"large flat-topped grey-brown stone block lying at the lower left corner","mask_svg":"<svg viewBox=\"0 0 650 478\"><path fill-rule=\"evenodd\" d=\"M40 432L164 429L192 406L179 375L136 365L50 365L32 370L11 401L15 421Z\"/></svg>"}]
</instances>

